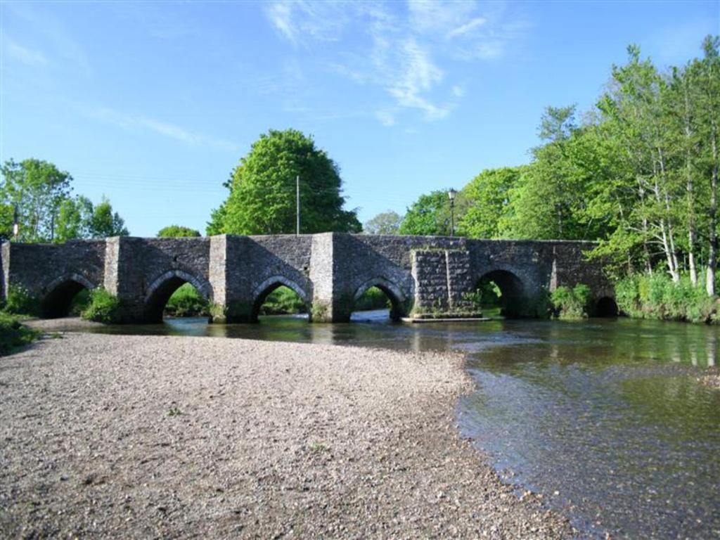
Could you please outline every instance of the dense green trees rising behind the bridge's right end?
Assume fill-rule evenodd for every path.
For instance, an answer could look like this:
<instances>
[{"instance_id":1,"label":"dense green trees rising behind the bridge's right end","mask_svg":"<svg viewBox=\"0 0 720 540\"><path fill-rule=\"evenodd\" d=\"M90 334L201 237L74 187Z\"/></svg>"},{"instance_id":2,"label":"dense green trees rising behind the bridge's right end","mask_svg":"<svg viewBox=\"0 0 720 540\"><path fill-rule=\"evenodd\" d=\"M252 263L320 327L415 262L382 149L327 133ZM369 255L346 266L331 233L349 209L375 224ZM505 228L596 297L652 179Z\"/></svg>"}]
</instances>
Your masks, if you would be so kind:
<instances>
[{"instance_id":1,"label":"dense green trees rising behind the bridge's right end","mask_svg":"<svg viewBox=\"0 0 720 540\"><path fill-rule=\"evenodd\" d=\"M548 107L531 163L482 171L464 187L458 233L599 240L592 255L618 277L687 275L714 294L719 48L708 36L701 58L659 71L630 46L582 122L575 107ZM447 208L444 192L423 195L400 230L446 234Z\"/></svg>"}]
</instances>

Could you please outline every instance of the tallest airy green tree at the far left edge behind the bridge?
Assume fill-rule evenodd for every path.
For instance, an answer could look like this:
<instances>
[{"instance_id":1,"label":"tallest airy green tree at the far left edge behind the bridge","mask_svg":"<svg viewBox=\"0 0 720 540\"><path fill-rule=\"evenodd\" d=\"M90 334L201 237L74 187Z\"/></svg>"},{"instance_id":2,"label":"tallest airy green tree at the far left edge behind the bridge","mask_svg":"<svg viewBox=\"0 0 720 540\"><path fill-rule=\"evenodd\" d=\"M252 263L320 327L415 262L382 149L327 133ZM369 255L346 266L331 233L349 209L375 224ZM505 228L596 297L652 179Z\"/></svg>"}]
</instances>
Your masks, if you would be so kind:
<instances>
[{"instance_id":1,"label":"tallest airy green tree at the far left edge behind the bridge","mask_svg":"<svg viewBox=\"0 0 720 540\"><path fill-rule=\"evenodd\" d=\"M39 159L12 159L0 168L0 204L17 207L22 242L50 240L58 207L71 191L73 177L53 163Z\"/></svg>"}]
</instances>

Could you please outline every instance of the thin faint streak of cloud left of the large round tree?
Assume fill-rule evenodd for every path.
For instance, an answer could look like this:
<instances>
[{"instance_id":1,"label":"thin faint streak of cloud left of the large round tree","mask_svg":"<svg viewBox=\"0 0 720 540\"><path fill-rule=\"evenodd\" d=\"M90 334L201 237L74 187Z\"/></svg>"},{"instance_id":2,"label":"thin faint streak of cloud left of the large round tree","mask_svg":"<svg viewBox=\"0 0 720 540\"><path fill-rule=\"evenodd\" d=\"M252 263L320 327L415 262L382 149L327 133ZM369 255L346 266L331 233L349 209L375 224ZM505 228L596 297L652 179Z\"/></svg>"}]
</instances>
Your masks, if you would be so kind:
<instances>
[{"instance_id":1,"label":"thin faint streak of cloud left of the large round tree","mask_svg":"<svg viewBox=\"0 0 720 540\"><path fill-rule=\"evenodd\" d=\"M239 145L230 140L215 138L198 132L186 130L184 127L172 124L171 122L163 122L154 118L143 115L125 114L110 107L78 107L81 114L99 120L109 125L122 127L126 130L145 130L154 132L163 137L177 140L187 145L209 145L220 150L230 150L237 152Z\"/></svg>"}]
</instances>

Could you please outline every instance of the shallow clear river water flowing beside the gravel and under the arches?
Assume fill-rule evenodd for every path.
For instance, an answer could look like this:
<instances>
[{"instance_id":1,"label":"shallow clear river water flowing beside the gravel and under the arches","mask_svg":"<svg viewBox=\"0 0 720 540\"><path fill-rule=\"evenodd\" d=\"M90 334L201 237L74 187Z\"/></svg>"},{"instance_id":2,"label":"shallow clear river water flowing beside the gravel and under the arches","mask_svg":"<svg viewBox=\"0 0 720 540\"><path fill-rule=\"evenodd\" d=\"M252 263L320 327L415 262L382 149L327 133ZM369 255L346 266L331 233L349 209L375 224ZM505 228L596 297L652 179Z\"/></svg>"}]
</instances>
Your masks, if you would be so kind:
<instances>
[{"instance_id":1,"label":"shallow clear river water flowing beside the gravel and under the arches","mask_svg":"<svg viewBox=\"0 0 720 540\"><path fill-rule=\"evenodd\" d=\"M698 382L718 361L718 328L354 317L334 325L191 318L99 331L462 351L478 386L459 402L462 433L518 493L542 493L583 538L720 538L720 391Z\"/></svg>"}]
</instances>

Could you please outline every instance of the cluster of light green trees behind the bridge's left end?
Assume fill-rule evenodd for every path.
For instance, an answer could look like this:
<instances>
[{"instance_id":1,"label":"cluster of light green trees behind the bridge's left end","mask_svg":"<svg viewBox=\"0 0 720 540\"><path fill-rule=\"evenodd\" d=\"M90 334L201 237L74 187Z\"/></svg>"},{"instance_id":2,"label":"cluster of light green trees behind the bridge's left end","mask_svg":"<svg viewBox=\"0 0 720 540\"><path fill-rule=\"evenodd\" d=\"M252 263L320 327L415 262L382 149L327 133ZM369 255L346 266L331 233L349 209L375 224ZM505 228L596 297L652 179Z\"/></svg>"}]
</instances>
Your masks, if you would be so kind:
<instances>
[{"instance_id":1,"label":"cluster of light green trees behind the bridge's left end","mask_svg":"<svg viewBox=\"0 0 720 540\"><path fill-rule=\"evenodd\" d=\"M34 158L17 163L11 159L0 171L0 240L12 237L16 208L20 242L129 234L107 198L94 206L87 197L70 197L73 177L53 163Z\"/></svg>"}]
</instances>

